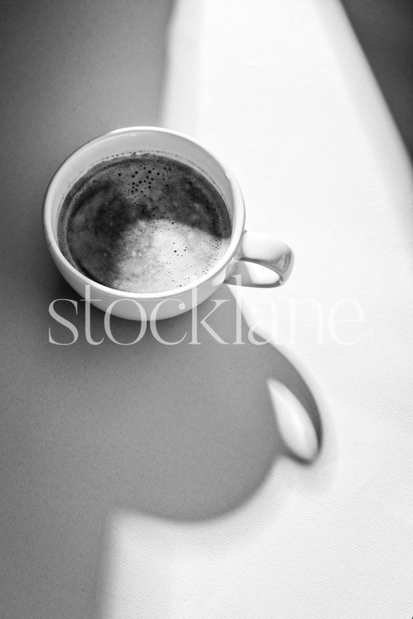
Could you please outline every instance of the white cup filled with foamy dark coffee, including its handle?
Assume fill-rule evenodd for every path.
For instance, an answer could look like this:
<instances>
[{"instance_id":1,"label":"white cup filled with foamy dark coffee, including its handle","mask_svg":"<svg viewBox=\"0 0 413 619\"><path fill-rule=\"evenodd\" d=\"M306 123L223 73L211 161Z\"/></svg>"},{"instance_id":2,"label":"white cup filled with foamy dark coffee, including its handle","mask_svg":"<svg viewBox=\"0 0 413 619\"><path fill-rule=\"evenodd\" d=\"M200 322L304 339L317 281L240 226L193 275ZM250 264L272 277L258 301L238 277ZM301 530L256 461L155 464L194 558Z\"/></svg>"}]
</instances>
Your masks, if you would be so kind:
<instances>
[{"instance_id":1,"label":"white cup filled with foamy dark coffee, including its handle","mask_svg":"<svg viewBox=\"0 0 413 619\"><path fill-rule=\"evenodd\" d=\"M187 312L224 282L284 283L292 250L244 224L233 173L197 140L159 127L87 142L43 203L47 246L67 282L100 310L140 321ZM251 275L247 263L265 268Z\"/></svg>"}]
</instances>

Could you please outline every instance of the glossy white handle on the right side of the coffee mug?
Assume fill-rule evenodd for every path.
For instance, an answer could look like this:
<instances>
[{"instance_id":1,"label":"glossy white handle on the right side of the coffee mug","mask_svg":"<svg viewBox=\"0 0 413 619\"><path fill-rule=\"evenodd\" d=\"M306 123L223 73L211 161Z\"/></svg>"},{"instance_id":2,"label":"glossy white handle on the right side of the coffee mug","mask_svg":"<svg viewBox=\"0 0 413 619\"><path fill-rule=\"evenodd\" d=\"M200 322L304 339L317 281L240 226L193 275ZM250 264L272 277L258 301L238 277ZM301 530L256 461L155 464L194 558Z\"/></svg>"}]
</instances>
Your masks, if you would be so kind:
<instances>
[{"instance_id":1,"label":"glossy white handle on the right side of the coffee mug","mask_svg":"<svg viewBox=\"0 0 413 619\"><path fill-rule=\"evenodd\" d=\"M290 276L293 263L293 250L286 243L271 235L245 230L237 258L226 274L225 283L254 287L280 286ZM260 267L254 268L254 265Z\"/></svg>"}]
</instances>

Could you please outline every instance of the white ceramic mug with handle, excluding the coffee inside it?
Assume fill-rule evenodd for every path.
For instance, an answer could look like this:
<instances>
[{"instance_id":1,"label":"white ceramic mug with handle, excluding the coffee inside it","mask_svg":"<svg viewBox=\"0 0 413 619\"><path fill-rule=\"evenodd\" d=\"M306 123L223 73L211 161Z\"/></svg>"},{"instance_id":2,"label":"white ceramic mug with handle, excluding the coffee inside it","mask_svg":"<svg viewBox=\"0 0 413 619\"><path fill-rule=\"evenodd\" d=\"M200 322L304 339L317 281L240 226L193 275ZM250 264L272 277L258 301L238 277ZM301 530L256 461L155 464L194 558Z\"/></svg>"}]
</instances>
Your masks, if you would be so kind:
<instances>
[{"instance_id":1,"label":"white ceramic mug with handle, excluding the coffee inside it","mask_svg":"<svg viewBox=\"0 0 413 619\"><path fill-rule=\"evenodd\" d=\"M74 182L96 163L136 151L172 155L204 173L220 191L231 217L231 242L224 255L207 274L175 290L145 294L114 290L76 270L59 248L59 211ZM244 224L244 199L231 171L197 140L159 127L117 129L87 142L56 171L43 204L47 246L63 277L78 294L100 310L130 320L159 320L187 312L211 296L224 282L266 287L284 283L293 268L292 250L272 236L247 232ZM246 263L266 268L251 274Z\"/></svg>"}]
</instances>

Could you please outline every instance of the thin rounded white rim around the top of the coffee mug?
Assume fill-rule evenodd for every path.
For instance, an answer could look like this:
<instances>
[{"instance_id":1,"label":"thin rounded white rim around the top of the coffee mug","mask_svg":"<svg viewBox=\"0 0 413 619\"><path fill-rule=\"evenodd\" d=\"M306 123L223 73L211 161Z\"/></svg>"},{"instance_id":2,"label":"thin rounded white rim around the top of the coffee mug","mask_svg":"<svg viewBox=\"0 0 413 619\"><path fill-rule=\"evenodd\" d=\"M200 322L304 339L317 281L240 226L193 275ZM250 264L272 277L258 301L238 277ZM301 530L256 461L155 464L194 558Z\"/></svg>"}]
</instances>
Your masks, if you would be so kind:
<instances>
[{"instance_id":1,"label":"thin rounded white rim around the top of the coffee mug","mask_svg":"<svg viewBox=\"0 0 413 619\"><path fill-rule=\"evenodd\" d=\"M187 142L191 142L199 149L207 153L217 164L220 166L226 180L228 180L229 185L231 187L231 194L233 197L233 217L231 221L231 242L229 243L228 248L220 257L217 263L213 265L207 273L202 275L199 279L196 279L192 283L182 285L180 287L172 288L171 290L165 290L162 292L126 292L123 290L117 290L116 288L112 288L110 286L106 286L104 284L98 283L94 281L94 279L89 278L87 275L83 274L81 271L76 269L72 263L70 263L67 258L63 255L61 248L59 247L59 243L56 241L56 237L54 235L54 228L52 226L52 214L54 210L59 207L61 202L56 205L55 202L52 201L51 195L54 190L54 186L59 181L59 177L65 173L65 168L72 163L78 155L81 155L83 152L87 151L94 144L98 144L98 142L104 142L108 138L116 135L123 135L127 133L168 133L169 135L176 136L177 138L181 138L186 140ZM171 153L173 154L173 153ZM116 155L114 155L116 156ZM188 160L191 162L190 160ZM96 162L97 163L97 162ZM92 164L93 165L93 164ZM228 206L227 206L228 208ZM73 151L70 155L63 160L63 162L59 165L59 167L54 172L52 179L47 185L47 189L45 192L45 197L43 199L43 209L42 209L42 221L43 221L43 230L45 233L45 237L47 240L47 245L54 257L55 261L63 263L66 269L70 270L74 276L83 281L84 285L89 285L94 288L96 291L101 291L104 294L112 294L117 298L131 298L131 299L164 299L176 297L180 294L185 294L187 292L191 292L191 290L198 288L204 283L207 283L213 279L213 277L218 274L218 272L222 271L223 268L226 268L231 260L235 257L237 247L239 246L240 240L242 238L242 234L244 232L245 226L245 208L244 208L244 197L242 195L242 191L240 185L238 184L235 176L231 169L229 169L226 164L222 162L222 160L217 157L209 148L204 146L202 142L196 140L195 138L191 138L189 135L185 133L181 133L180 131L174 131L172 129L166 129L164 127L149 127L149 126L137 126L137 127L123 127L121 129L114 129L112 131L107 131L107 133L103 133L101 135L97 135L95 138L88 140L82 146L79 146L75 151Z\"/></svg>"}]
</instances>

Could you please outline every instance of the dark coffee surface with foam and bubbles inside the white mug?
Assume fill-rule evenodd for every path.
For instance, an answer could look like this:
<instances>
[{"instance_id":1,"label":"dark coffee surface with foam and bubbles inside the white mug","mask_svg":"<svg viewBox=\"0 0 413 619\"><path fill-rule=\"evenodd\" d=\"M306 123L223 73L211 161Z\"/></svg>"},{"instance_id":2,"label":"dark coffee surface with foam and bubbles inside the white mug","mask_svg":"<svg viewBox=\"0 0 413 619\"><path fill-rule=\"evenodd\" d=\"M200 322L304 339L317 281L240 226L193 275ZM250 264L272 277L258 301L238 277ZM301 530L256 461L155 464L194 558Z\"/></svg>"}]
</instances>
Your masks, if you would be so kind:
<instances>
[{"instance_id":1,"label":"dark coffee surface with foam and bubbles inside the white mug","mask_svg":"<svg viewBox=\"0 0 413 619\"><path fill-rule=\"evenodd\" d=\"M199 171L156 153L101 162L68 193L59 246L90 279L166 292L213 268L231 237L222 196Z\"/></svg>"}]
</instances>

